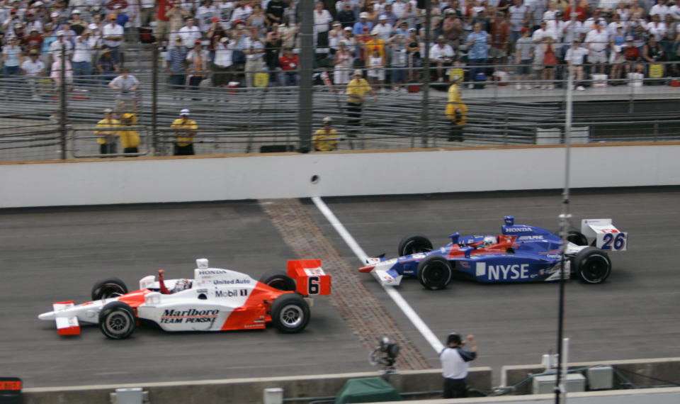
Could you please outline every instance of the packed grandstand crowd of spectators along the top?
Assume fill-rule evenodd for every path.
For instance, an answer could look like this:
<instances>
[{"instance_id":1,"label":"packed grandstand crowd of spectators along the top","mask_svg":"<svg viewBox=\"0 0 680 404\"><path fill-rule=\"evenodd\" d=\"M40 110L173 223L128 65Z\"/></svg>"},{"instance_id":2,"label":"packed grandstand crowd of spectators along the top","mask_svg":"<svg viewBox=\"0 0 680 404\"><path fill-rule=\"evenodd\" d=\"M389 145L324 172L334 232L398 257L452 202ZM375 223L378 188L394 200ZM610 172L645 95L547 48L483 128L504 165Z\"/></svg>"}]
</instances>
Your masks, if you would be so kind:
<instances>
[{"instance_id":1,"label":"packed grandstand crowd of spectators along the top","mask_svg":"<svg viewBox=\"0 0 680 404\"><path fill-rule=\"evenodd\" d=\"M113 79L131 48L159 43L176 89L297 84L300 0L3 0L4 76ZM364 69L378 89L463 72L469 82L516 74L517 89L577 79L677 76L680 7L668 0L340 0L314 6L315 67L326 84ZM61 60L66 55L67 60ZM667 63L662 63L667 62ZM670 62L670 63L668 63ZM464 68L464 69L463 69ZM616 84L613 81L611 84ZM472 84L470 84L472 86ZM579 83L579 89L583 86Z\"/></svg>"}]
</instances>

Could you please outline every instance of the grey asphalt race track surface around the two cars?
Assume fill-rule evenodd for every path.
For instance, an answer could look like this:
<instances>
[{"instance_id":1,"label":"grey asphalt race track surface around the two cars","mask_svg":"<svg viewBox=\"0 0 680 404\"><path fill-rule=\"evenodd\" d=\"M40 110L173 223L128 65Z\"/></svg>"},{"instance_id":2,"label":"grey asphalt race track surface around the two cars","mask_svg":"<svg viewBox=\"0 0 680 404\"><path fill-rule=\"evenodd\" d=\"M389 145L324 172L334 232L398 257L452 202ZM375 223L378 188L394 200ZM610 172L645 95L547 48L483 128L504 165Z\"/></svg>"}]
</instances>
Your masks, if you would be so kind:
<instances>
[{"instance_id":1,"label":"grey asphalt race track surface around the two cars","mask_svg":"<svg viewBox=\"0 0 680 404\"><path fill-rule=\"evenodd\" d=\"M455 231L499 232L504 215L516 223L557 229L560 191L432 196L327 198L368 254L396 254L404 235L423 233L435 245ZM680 356L677 303L680 277L680 188L572 192L574 225L582 218L613 218L629 232L627 252L612 253L605 284L567 284L565 336L570 361ZM361 262L319 213L309 213L353 268ZM137 329L128 340L107 340L96 326L59 337L38 313L54 301L89 300L105 276L131 289L163 268L191 276L194 259L258 278L293 257L256 201L164 206L103 206L0 211L0 363L5 376L26 387L184 381L215 378L371 371L367 352L327 299L319 297L305 332L166 333ZM416 347L438 367L436 352L369 275L363 283ZM536 364L555 350L557 284L484 285L455 282L426 291L415 279L399 287L438 337L456 330L477 335L475 366ZM397 361L397 367L399 362Z\"/></svg>"}]
</instances>

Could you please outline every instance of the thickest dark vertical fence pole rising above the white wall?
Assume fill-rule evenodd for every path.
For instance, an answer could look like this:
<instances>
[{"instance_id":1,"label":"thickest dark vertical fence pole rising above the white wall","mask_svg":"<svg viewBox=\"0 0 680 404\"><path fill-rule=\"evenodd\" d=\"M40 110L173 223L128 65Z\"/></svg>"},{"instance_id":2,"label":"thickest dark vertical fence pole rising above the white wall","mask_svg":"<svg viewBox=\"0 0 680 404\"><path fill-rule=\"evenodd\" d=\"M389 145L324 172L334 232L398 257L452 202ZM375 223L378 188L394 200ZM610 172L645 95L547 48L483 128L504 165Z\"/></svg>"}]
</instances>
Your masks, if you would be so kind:
<instances>
[{"instance_id":1,"label":"thickest dark vertical fence pole rising above the white wall","mask_svg":"<svg viewBox=\"0 0 680 404\"><path fill-rule=\"evenodd\" d=\"M312 74L314 72L314 0L300 0L300 108L297 111L297 135L300 152L312 149Z\"/></svg>"}]
</instances>

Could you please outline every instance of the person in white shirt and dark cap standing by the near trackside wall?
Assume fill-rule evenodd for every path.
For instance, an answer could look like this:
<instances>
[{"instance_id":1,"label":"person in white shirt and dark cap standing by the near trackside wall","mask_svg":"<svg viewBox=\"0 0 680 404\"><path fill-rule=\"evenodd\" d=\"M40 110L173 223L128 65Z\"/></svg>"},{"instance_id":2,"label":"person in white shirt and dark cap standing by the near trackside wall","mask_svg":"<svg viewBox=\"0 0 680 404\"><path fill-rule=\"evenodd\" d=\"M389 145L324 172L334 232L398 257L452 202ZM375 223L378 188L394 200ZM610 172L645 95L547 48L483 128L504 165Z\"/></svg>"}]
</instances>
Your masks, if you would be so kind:
<instances>
[{"instance_id":1,"label":"person in white shirt and dark cap standing by the near trackside wall","mask_svg":"<svg viewBox=\"0 0 680 404\"><path fill-rule=\"evenodd\" d=\"M439 354L441 359L442 374L444 376L444 398L467 397L467 369L468 362L474 360L479 354L477 341L474 335L468 335L470 350L463 349L465 341L455 332L448 335L446 347Z\"/></svg>"}]
</instances>

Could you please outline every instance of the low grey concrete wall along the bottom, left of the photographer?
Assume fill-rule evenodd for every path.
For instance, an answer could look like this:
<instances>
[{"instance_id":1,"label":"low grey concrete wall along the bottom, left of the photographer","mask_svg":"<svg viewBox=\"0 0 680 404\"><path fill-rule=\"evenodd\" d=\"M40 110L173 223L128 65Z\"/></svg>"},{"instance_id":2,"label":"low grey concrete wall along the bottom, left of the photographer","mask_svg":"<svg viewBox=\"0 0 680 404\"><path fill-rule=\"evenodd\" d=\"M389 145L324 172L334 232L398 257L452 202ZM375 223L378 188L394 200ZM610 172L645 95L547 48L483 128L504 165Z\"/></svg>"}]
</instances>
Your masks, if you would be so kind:
<instances>
[{"instance_id":1,"label":"low grey concrete wall along the bottom, left of the photographer","mask_svg":"<svg viewBox=\"0 0 680 404\"><path fill-rule=\"evenodd\" d=\"M375 377L375 372L352 374L327 374L314 376L290 376L272 378L237 378L166 383L137 383L135 385L101 385L59 388L27 388L23 391L24 404L108 404L109 395L116 388L142 387L149 392L152 404L259 404L265 388L283 388L287 404L309 403L309 398L334 396L350 378ZM399 393L419 392L412 398L441 396L441 369L402 371L383 376ZM470 369L470 386L489 390L492 385L492 369ZM433 393L434 392L434 393ZM294 398L301 398L295 400ZM307 398L307 399L305 399Z\"/></svg>"}]
</instances>

